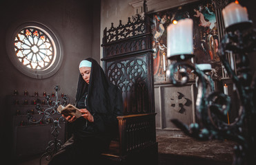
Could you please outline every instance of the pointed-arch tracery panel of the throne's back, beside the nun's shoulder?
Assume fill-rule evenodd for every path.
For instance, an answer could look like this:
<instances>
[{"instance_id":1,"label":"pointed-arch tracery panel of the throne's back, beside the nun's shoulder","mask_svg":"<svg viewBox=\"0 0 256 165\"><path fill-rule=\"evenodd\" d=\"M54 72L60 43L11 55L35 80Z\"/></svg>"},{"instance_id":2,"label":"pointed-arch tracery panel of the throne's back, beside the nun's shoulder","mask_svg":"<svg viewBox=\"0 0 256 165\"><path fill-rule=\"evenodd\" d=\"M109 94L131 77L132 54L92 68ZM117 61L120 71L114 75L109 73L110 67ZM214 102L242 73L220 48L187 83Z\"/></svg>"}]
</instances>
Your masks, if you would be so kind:
<instances>
[{"instance_id":1,"label":"pointed-arch tracery panel of the throne's back, beside the nun's shoulder","mask_svg":"<svg viewBox=\"0 0 256 165\"><path fill-rule=\"evenodd\" d=\"M124 58L106 65L110 82L122 91L124 113L148 113L148 63L146 54L135 58Z\"/></svg>"}]
</instances>

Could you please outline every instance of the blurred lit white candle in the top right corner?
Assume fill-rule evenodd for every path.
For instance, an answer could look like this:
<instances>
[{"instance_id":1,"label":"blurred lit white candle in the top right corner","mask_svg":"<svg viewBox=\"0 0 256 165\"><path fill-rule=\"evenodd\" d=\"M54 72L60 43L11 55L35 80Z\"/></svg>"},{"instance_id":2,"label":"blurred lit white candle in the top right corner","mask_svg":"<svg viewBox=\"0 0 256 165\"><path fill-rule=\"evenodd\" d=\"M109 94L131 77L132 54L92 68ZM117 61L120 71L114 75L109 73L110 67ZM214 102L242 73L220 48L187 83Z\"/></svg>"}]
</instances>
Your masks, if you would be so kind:
<instances>
[{"instance_id":1,"label":"blurred lit white candle in the top right corner","mask_svg":"<svg viewBox=\"0 0 256 165\"><path fill-rule=\"evenodd\" d=\"M230 3L222 10L225 28L235 23L248 21L247 9L237 3Z\"/></svg>"}]
</instances>

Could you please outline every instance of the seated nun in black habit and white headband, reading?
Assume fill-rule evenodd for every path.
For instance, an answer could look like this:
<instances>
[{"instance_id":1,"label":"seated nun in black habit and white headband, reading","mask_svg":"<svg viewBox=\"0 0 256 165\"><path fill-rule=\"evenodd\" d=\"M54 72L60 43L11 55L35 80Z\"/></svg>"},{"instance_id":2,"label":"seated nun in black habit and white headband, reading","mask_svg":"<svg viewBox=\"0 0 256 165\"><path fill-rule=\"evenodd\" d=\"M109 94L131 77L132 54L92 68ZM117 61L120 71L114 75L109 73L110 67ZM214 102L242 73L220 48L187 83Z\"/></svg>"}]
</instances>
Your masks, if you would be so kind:
<instances>
[{"instance_id":1,"label":"seated nun in black habit and white headband, reading","mask_svg":"<svg viewBox=\"0 0 256 165\"><path fill-rule=\"evenodd\" d=\"M72 137L55 154L49 165L98 164L99 155L117 135L117 115L123 111L121 91L110 83L92 58L79 65L76 107L82 116L64 116Z\"/></svg>"}]
</instances>

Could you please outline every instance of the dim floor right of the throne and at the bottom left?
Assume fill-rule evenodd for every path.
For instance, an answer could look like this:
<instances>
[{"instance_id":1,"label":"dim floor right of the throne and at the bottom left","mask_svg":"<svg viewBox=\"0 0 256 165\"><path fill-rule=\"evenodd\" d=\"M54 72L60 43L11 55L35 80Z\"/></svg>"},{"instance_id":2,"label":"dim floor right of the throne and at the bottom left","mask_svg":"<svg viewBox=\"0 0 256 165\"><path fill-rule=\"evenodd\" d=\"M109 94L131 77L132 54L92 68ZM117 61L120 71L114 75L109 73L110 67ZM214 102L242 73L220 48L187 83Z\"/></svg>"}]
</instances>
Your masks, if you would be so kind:
<instances>
[{"instance_id":1,"label":"dim floor right of the throne and at the bottom left","mask_svg":"<svg viewBox=\"0 0 256 165\"><path fill-rule=\"evenodd\" d=\"M184 135L157 133L158 165L230 165L234 142L197 141ZM39 165L40 155L23 159L17 165ZM41 165L46 165L42 159Z\"/></svg>"}]
</instances>

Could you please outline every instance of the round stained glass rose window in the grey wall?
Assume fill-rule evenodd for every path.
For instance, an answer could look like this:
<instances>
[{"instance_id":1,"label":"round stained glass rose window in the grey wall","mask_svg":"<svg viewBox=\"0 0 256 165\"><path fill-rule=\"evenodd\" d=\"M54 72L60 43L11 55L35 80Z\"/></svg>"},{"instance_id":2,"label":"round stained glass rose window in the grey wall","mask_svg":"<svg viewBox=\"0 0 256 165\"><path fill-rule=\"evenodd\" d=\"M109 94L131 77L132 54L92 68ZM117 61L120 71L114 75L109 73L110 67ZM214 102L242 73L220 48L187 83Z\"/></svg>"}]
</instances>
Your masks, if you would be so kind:
<instances>
[{"instance_id":1,"label":"round stained glass rose window in the grey wall","mask_svg":"<svg viewBox=\"0 0 256 165\"><path fill-rule=\"evenodd\" d=\"M14 50L19 61L34 70L48 68L55 59L50 36L37 28L23 28L14 39Z\"/></svg>"}]
</instances>

